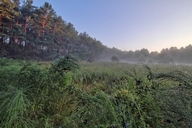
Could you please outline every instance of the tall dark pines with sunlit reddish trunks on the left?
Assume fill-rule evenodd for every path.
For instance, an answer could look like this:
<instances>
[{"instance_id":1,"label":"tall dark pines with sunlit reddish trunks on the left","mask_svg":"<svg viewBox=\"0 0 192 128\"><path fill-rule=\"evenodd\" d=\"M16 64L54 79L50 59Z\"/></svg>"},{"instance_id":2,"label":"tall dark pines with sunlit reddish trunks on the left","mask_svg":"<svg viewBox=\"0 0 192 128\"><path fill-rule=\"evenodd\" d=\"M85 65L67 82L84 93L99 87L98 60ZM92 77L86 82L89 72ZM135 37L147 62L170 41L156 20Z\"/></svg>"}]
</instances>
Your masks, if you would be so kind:
<instances>
[{"instance_id":1,"label":"tall dark pines with sunlit reddish trunks on the left","mask_svg":"<svg viewBox=\"0 0 192 128\"><path fill-rule=\"evenodd\" d=\"M87 59L104 47L86 32L78 33L48 2L40 7L33 0L0 3L1 57L52 60L73 53Z\"/></svg>"}]
</instances>

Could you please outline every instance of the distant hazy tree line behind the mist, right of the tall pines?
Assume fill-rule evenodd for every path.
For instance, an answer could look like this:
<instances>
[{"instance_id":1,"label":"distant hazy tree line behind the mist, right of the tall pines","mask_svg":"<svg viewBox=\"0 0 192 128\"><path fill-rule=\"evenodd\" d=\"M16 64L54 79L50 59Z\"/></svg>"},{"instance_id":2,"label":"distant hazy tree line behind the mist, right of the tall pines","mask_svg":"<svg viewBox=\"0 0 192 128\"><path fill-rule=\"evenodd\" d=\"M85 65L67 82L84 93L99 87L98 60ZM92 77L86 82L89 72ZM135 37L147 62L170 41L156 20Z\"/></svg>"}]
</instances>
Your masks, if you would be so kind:
<instances>
[{"instance_id":1,"label":"distant hazy tree line behind the mist, right of the tall pines","mask_svg":"<svg viewBox=\"0 0 192 128\"><path fill-rule=\"evenodd\" d=\"M164 48L160 52L149 52L148 49L145 48L136 51L121 51L112 48L108 51L104 51L102 56L105 55L115 55L120 61L132 63L191 64L192 45L189 44L188 46L181 48Z\"/></svg>"}]
</instances>

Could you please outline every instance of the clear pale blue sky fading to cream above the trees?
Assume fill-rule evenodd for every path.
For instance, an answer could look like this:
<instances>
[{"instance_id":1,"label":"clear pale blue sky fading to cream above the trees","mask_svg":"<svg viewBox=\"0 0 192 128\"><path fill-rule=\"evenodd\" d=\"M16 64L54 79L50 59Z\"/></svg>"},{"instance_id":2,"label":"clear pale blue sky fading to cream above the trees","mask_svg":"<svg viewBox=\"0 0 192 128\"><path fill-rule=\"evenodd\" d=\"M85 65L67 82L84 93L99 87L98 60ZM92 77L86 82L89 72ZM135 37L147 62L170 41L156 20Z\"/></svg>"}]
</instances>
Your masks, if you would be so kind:
<instances>
[{"instance_id":1,"label":"clear pale blue sky fading to cream above the trees","mask_svg":"<svg viewBox=\"0 0 192 128\"><path fill-rule=\"evenodd\" d=\"M110 48L160 52L192 44L192 0L33 0Z\"/></svg>"}]
</instances>

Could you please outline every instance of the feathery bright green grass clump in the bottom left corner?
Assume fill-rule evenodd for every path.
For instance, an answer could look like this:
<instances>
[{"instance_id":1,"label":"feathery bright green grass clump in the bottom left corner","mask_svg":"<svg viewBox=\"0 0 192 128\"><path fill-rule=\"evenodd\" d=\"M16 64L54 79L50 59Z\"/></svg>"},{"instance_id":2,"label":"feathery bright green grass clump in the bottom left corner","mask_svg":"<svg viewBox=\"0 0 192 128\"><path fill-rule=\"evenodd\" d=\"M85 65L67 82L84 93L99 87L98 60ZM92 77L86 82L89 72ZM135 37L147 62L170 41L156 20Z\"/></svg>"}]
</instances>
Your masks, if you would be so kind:
<instances>
[{"instance_id":1,"label":"feathery bright green grass clump in the bottom left corner","mask_svg":"<svg viewBox=\"0 0 192 128\"><path fill-rule=\"evenodd\" d=\"M14 86L7 86L7 91L1 91L1 127L4 128L29 128L33 127L32 120L25 118L30 107L24 88L18 89Z\"/></svg>"}]
</instances>

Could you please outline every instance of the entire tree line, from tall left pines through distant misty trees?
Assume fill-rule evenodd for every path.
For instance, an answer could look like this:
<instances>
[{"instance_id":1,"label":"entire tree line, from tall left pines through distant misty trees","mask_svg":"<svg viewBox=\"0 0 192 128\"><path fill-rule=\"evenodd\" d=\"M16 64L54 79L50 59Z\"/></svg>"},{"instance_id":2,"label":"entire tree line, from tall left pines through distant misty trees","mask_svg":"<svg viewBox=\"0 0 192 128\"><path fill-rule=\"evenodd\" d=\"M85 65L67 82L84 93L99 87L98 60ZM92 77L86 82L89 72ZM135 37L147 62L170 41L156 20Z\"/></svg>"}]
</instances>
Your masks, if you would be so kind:
<instances>
[{"instance_id":1,"label":"entire tree line, from tall left pines through distant misty trees","mask_svg":"<svg viewBox=\"0 0 192 128\"><path fill-rule=\"evenodd\" d=\"M142 63L191 63L192 46L166 48L160 53L147 49L121 51L109 48L58 16L51 4L36 7L33 0L0 2L0 57L54 60L66 54L81 60L110 60Z\"/></svg>"}]
</instances>

